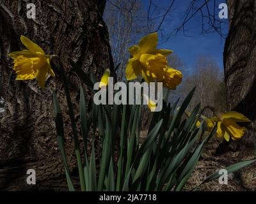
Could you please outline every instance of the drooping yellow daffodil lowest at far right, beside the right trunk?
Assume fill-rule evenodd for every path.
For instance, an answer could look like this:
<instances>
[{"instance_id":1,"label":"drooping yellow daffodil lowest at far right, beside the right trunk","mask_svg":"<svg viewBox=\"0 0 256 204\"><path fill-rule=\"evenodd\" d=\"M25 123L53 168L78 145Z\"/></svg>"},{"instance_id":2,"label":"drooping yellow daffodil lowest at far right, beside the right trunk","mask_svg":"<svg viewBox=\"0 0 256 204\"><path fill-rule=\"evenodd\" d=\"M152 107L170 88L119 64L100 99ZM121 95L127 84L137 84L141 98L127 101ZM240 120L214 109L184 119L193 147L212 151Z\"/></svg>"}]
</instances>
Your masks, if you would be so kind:
<instances>
[{"instance_id":1,"label":"drooping yellow daffodil lowest at far right, beside the right trunk","mask_svg":"<svg viewBox=\"0 0 256 204\"><path fill-rule=\"evenodd\" d=\"M245 127L241 127L237 122L250 122L250 120L241 113L237 112L227 112L221 114L219 117L214 117L212 119L217 122L216 135L218 137L223 137L225 140L239 140L246 130Z\"/></svg>"}]
</instances>

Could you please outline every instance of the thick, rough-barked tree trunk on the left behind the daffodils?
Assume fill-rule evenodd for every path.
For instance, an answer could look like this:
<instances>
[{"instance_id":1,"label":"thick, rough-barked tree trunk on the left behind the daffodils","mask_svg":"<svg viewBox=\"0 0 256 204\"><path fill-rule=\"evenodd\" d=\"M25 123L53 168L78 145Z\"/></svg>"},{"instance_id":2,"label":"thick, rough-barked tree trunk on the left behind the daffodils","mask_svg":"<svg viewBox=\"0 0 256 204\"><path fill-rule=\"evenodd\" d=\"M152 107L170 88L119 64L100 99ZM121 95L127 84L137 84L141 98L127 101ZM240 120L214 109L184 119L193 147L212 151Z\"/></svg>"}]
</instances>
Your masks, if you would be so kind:
<instances>
[{"instance_id":1,"label":"thick, rough-barked tree trunk on the left behind the daffodils","mask_svg":"<svg viewBox=\"0 0 256 204\"><path fill-rule=\"evenodd\" d=\"M102 20L106 1L32 1L36 19L27 18L30 1L0 1L0 92L6 107L0 122L0 191L67 190L53 116L52 90L63 111L68 161L77 175L72 131L60 75L48 78L42 91L35 80L16 81L8 53L22 50L20 34L40 45L45 53L63 61L74 107L80 80L68 66L71 57L86 73L98 77L113 70L108 31ZM88 101L89 103L89 101ZM92 103L92 102L91 102ZM75 108L76 109L76 108ZM77 111L76 119L78 120ZM28 185L26 171L36 171L36 185Z\"/></svg>"}]
</instances>

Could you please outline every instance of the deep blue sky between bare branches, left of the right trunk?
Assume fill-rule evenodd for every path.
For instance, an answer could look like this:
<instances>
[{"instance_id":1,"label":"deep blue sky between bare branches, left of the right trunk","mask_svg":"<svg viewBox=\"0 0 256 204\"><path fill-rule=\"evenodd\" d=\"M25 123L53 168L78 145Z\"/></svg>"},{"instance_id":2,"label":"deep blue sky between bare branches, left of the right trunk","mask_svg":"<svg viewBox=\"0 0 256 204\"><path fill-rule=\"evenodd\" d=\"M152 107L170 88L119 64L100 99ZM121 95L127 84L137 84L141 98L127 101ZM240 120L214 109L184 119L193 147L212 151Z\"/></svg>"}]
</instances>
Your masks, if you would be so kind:
<instances>
[{"instance_id":1,"label":"deep blue sky between bare branches, left of the right trunk","mask_svg":"<svg viewBox=\"0 0 256 204\"><path fill-rule=\"evenodd\" d=\"M149 0L143 0L143 7L148 10ZM163 6L168 8L170 0L153 1L157 6ZM173 31L174 27L180 25L182 19L184 19L184 10L188 8L190 0L176 0L173 5L173 9L170 11L170 15L166 17L162 25L164 33L170 33ZM216 11L218 10L218 5L220 3L225 3L225 0L216 1ZM198 1L198 5L202 4L202 1ZM210 1L209 8L214 8L213 1ZM206 11L206 10L205 10ZM158 15L158 13L156 13ZM157 21L156 21L157 24ZM221 38L218 33L201 34L202 28L202 17L196 15L191 20L189 20L186 25L186 30L188 32L185 36L183 32L179 32L171 36L168 40L159 39L159 47L168 48L173 50L182 61L185 62L187 68L193 68L195 65L195 60L200 55L211 56L220 66L223 71L223 48L225 45L225 38ZM223 29L223 33L227 33L227 26Z\"/></svg>"}]
</instances>

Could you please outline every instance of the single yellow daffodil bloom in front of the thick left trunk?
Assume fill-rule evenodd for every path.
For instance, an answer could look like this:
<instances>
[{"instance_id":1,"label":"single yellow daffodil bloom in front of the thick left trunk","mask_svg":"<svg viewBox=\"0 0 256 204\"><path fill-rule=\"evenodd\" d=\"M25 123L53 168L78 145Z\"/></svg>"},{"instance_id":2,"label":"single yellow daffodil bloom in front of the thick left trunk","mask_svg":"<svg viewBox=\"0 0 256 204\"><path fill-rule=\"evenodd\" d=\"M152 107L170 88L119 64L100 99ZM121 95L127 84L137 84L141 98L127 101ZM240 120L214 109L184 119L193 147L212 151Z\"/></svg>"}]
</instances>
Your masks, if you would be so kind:
<instances>
[{"instance_id":1,"label":"single yellow daffodil bloom in front of the thick left trunk","mask_svg":"<svg viewBox=\"0 0 256 204\"><path fill-rule=\"evenodd\" d=\"M50 55L25 36L20 36L20 41L28 50L12 52L9 56L13 59L13 70L16 72L16 80L33 80L36 78L42 89L45 87L47 74L54 77L50 64Z\"/></svg>"}]
</instances>

